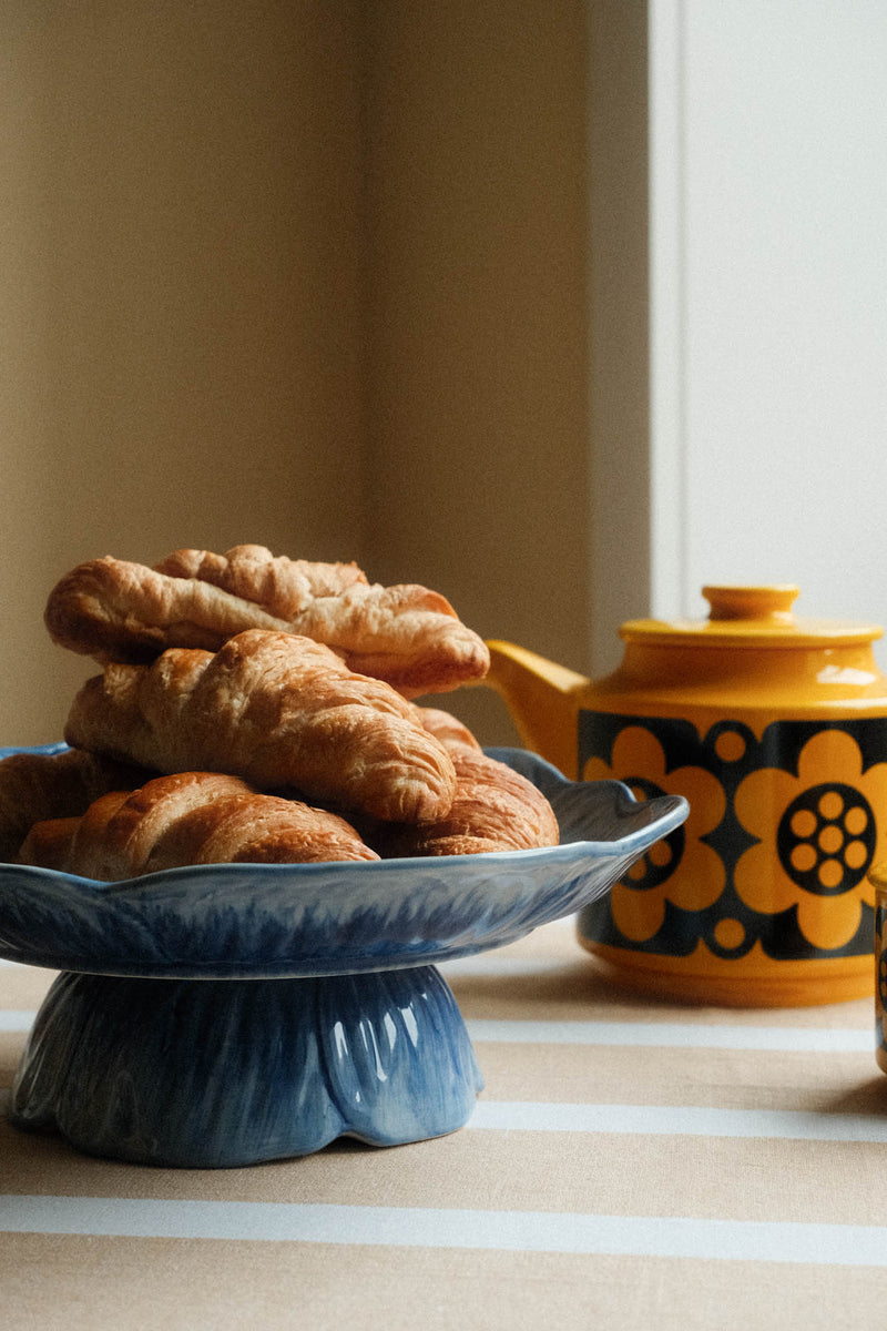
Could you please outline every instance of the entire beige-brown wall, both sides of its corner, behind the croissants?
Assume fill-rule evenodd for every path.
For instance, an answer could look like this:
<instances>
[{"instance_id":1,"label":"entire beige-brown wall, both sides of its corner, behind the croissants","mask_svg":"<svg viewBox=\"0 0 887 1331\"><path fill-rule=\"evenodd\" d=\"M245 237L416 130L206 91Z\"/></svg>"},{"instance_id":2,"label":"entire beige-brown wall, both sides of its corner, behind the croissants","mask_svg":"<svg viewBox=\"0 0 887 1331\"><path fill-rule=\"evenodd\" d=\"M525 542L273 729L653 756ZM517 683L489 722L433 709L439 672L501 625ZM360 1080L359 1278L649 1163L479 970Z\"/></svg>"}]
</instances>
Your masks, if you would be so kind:
<instances>
[{"instance_id":1,"label":"entire beige-brown wall, both sides of its corner, behind the croissants","mask_svg":"<svg viewBox=\"0 0 887 1331\"><path fill-rule=\"evenodd\" d=\"M106 552L355 558L582 668L584 5L11 0L0 40L0 741L60 736L93 667L43 604Z\"/></svg>"}]
</instances>

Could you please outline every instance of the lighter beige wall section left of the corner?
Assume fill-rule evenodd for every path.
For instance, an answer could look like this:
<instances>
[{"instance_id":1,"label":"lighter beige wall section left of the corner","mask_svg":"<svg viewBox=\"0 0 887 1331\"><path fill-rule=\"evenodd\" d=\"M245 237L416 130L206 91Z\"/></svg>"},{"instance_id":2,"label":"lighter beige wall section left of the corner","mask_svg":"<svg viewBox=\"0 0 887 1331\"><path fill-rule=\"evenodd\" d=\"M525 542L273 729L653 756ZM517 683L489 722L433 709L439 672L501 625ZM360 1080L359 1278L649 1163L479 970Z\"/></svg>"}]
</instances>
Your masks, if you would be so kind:
<instances>
[{"instance_id":1,"label":"lighter beige wall section left of the corner","mask_svg":"<svg viewBox=\"0 0 887 1331\"><path fill-rule=\"evenodd\" d=\"M36 743L90 672L41 624L72 564L364 554L356 48L354 5L249 0L9 0L0 41L0 733Z\"/></svg>"}]
</instances>

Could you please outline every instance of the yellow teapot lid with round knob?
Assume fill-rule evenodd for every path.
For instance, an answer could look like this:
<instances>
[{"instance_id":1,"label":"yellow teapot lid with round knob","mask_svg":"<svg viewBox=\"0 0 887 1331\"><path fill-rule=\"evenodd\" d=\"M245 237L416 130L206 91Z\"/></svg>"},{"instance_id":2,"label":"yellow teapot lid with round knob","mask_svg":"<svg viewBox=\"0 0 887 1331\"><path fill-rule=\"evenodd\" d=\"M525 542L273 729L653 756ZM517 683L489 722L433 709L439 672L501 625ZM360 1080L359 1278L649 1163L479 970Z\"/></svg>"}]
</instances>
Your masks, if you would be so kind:
<instances>
[{"instance_id":1,"label":"yellow teapot lid with round knob","mask_svg":"<svg viewBox=\"0 0 887 1331\"><path fill-rule=\"evenodd\" d=\"M703 647L826 647L828 643L871 643L883 636L876 624L827 619L798 619L791 606L799 588L791 583L767 587L707 586L702 595L709 618L702 620L630 619L620 628L626 642Z\"/></svg>"}]
</instances>

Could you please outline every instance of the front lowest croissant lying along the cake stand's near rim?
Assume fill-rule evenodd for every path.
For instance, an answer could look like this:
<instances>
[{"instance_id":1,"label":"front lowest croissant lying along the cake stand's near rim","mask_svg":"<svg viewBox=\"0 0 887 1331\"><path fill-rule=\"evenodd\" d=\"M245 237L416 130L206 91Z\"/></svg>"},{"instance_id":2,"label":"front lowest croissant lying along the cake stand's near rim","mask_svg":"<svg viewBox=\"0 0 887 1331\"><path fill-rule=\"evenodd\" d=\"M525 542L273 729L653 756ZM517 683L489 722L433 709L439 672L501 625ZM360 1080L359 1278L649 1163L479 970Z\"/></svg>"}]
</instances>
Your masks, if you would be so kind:
<instances>
[{"instance_id":1,"label":"front lowest croissant lying along the cake stand's near rim","mask_svg":"<svg viewBox=\"0 0 887 1331\"><path fill-rule=\"evenodd\" d=\"M189 864L313 864L378 855L335 813L259 795L234 776L181 772L130 795L102 796L82 817L37 823L19 860L120 882Z\"/></svg>"}]
</instances>

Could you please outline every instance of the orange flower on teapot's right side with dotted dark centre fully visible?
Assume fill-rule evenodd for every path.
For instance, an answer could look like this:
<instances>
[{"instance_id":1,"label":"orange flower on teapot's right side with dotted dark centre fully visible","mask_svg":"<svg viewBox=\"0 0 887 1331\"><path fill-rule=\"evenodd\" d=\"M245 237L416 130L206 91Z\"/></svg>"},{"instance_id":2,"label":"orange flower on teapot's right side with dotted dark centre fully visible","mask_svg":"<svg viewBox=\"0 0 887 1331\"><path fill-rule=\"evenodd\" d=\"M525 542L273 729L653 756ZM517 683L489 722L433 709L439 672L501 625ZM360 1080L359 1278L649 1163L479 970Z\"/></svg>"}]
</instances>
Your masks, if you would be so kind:
<instances>
[{"instance_id":1,"label":"orange flower on teapot's right side with dotted dark centre fully visible","mask_svg":"<svg viewBox=\"0 0 887 1331\"><path fill-rule=\"evenodd\" d=\"M798 926L815 948L842 948L859 929L863 901L874 904L867 872L887 852L875 809L887 808L887 763L862 771L852 736L819 731L807 740L798 775L751 772L735 793L737 817L758 844L735 868L735 889L753 910L798 909Z\"/></svg>"}]
</instances>

